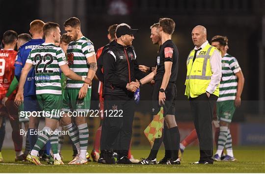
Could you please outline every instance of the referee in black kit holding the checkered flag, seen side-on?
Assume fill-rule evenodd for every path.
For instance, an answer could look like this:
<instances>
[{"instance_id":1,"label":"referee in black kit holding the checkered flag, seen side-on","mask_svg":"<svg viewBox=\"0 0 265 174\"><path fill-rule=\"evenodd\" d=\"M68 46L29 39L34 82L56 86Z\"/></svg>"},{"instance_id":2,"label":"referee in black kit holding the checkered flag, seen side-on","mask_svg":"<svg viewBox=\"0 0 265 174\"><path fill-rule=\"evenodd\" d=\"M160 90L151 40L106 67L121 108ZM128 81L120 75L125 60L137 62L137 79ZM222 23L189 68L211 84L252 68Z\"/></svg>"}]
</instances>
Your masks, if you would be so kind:
<instances>
[{"instance_id":1,"label":"referee in black kit holding the checkered flag, seen side-on","mask_svg":"<svg viewBox=\"0 0 265 174\"><path fill-rule=\"evenodd\" d=\"M178 158L180 133L175 120L179 51L171 40L174 29L175 22L172 19L162 18L159 20L159 33L162 45L157 57L157 66L155 71L140 80L142 84L145 84L155 76L152 94L152 115L157 115L160 106L163 105L166 123L164 126L167 126L167 129L162 130L162 137L155 140L149 156L139 162L142 165L157 164L157 153L164 136L166 136L170 144L171 158L166 159L163 164L180 164L180 159Z\"/></svg>"}]
</instances>

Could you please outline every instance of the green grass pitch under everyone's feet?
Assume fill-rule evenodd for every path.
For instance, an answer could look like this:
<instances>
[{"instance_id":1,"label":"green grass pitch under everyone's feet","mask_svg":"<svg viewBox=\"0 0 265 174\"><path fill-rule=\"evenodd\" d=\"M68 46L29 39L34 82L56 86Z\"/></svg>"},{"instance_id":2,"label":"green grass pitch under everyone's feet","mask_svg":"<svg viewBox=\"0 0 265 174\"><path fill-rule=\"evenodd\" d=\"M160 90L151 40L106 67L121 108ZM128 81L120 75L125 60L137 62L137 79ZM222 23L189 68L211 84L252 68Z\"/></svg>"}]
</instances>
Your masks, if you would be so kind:
<instances>
[{"instance_id":1,"label":"green grass pitch under everyone's feet","mask_svg":"<svg viewBox=\"0 0 265 174\"><path fill-rule=\"evenodd\" d=\"M135 159L147 157L150 147L132 149ZM89 152L91 149L89 149ZM63 147L63 161L67 164L72 159L71 147ZM164 155L161 147L158 160ZM15 152L2 149L4 162L0 163L0 173L265 173L265 147L235 147L236 162L214 162L213 165L192 165L199 158L196 147L185 149L181 165L103 165L89 162L86 165L44 165L35 166L29 163L15 163ZM43 163L45 164L45 163Z\"/></svg>"}]
</instances>

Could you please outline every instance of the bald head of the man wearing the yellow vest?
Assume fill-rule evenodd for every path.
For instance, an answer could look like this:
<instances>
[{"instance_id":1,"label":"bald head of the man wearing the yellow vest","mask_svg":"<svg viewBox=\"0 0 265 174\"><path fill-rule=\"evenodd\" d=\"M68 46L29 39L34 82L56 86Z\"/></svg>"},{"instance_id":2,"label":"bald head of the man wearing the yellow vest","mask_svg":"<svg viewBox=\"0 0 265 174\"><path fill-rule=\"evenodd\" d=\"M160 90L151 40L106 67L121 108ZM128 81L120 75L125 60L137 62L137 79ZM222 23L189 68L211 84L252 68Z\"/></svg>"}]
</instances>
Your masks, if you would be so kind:
<instances>
[{"instance_id":1,"label":"bald head of the man wearing the yellow vest","mask_svg":"<svg viewBox=\"0 0 265 174\"><path fill-rule=\"evenodd\" d=\"M191 38L193 44L199 48L207 41L207 30L202 25L197 25L192 29Z\"/></svg>"}]
</instances>

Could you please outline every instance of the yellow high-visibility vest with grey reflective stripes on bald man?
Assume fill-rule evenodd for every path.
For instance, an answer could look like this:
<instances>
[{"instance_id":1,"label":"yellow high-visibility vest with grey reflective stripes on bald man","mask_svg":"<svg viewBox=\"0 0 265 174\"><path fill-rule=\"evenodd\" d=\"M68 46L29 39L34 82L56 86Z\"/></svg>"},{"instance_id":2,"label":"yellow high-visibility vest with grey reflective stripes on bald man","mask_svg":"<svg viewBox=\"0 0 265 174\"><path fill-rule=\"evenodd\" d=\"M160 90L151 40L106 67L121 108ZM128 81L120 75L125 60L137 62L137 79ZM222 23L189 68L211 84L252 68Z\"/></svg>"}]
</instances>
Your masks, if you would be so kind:
<instances>
[{"instance_id":1,"label":"yellow high-visibility vest with grey reflective stripes on bald man","mask_svg":"<svg viewBox=\"0 0 265 174\"><path fill-rule=\"evenodd\" d=\"M187 75L185 80L185 96L188 98L196 98L199 95L206 93L206 89L212 76L210 57L214 50L217 49L210 44L207 44L202 50L198 51L199 53L194 62L193 56L195 50L190 51L187 58ZM219 85L212 94L219 97Z\"/></svg>"}]
</instances>

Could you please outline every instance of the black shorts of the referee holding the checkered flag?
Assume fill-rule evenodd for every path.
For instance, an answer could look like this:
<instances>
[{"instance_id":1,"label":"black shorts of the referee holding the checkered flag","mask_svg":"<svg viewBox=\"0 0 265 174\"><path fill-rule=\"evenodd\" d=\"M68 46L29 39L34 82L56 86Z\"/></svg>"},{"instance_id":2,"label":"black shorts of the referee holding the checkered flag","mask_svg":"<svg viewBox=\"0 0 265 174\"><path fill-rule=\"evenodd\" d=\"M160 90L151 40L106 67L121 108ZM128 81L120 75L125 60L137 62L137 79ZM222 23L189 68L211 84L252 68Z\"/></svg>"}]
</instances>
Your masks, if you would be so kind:
<instances>
[{"instance_id":1,"label":"black shorts of the referee holding the checkered flag","mask_svg":"<svg viewBox=\"0 0 265 174\"><path fill-rule=\"evenodd\" d=\"M152 115L157 115L160 111L159 106L159 89L161 87L162 81L156 81L152 93ZM164 117L166 115L175 115L176 113L176 101L177 101L177 86L176 83L168 82L168 85L165 89L165 105L164 109Z\"/></svg>"}]
</instances>

